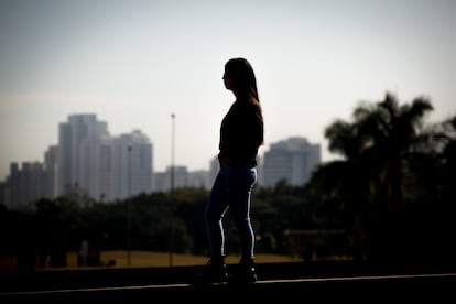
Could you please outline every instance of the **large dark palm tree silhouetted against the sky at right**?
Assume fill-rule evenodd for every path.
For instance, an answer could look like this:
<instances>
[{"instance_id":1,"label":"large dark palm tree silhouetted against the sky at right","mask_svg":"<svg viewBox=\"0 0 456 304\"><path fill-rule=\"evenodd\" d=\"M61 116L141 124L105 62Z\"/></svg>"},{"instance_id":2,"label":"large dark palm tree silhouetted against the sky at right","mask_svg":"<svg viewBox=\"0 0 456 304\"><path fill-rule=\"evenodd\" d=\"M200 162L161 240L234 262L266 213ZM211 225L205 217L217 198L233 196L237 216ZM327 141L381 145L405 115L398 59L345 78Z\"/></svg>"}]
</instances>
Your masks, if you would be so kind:
<instances>
[{"instance_id":1,"label":"large dark palm tree silhouetted against the sky at right","mask_svg":"<svg viewBox=\"0 0 456 304\"><path fill-rule=\"evenodd\" d=\"M361 217L360 229L368 229L370 238L379 240L376 250L398 246L400 241L404 162L413 159L413 146L431 110L425 97L399 105L395 96L387 93L382 101L357 107L354 122L336 120L325 129L329 151L343 154L350 176L356 175L358 188L347 191L354 199L355 214ZM366 203L370 203L368 209Z\"/></svg>"}]
</instances>

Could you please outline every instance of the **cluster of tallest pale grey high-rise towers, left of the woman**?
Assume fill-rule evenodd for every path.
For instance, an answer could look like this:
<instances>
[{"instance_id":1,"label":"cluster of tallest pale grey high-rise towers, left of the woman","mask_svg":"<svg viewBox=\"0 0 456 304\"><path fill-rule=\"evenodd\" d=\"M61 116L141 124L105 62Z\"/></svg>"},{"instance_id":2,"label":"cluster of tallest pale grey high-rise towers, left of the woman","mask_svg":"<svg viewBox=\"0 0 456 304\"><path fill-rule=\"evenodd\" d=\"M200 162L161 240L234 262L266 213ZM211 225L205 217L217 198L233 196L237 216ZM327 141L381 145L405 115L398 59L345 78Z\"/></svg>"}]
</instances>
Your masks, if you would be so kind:
<instances>
[{"instance_id":1,"label":"cluster of tallest pale grey high-rise towers, left of the woman","mask_svg":"<svg viewBox=\"0 0 456 304\"><path fill-rule=\"evenodd\" d=\"M95 115L72 115L58 135L58 195L84 189L112 202L152 191L152 144L141 131L111 137Z\"/></svg>"}]
</instances>

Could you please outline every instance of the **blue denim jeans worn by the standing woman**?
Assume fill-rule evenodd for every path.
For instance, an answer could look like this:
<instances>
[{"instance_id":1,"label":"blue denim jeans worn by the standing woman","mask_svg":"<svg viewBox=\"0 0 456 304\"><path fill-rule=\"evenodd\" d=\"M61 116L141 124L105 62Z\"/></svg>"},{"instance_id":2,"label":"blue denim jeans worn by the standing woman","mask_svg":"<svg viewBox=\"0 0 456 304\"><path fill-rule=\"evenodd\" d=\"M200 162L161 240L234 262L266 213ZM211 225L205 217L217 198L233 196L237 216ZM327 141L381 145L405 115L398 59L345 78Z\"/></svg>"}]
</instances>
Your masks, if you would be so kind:
<instances>
[{"instance_id":1,"label":"blue denim jeans worn by the standing woman","mask_svg":"<svg viewBox=\"0 0 456 304\"><path fill-rule=\"evenodd\" d=\"M254 232L250 222L250 197L257 183L257 166L250 163L226 164L214 182L205 209L210 257L224 257L225 230L224 217L230 209L239 234L242 258L253 258Z\"/></svg>"}]
</instances>

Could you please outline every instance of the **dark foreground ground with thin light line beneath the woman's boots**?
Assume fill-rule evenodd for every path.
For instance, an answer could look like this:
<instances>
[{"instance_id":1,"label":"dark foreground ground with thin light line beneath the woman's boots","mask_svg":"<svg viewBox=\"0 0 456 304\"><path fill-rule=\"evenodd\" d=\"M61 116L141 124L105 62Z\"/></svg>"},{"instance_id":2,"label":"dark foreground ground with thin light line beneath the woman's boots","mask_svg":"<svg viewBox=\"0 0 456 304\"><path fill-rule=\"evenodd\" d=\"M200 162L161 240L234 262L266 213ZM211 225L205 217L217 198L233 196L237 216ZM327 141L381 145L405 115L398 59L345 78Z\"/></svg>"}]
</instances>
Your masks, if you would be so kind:
<instances>
[{"instance_id":1,"label":"dark foreground ground with thin light line beneath the woman's boots","mask_svg":"<svg viewBox=\"0 0 456 304\"><path fill-rule=\"evenodd\" d=\"M228 267L232 270L237 265ZM232 304L246 301L279 301L279 304L322 300L456 301L456 268L439 263L260 263L257 264L259 281L254 284L191 285L192 278L199 271L200 267L165 267L0 273L0 303L42 300Z\"/></svg>"}]
</instances>

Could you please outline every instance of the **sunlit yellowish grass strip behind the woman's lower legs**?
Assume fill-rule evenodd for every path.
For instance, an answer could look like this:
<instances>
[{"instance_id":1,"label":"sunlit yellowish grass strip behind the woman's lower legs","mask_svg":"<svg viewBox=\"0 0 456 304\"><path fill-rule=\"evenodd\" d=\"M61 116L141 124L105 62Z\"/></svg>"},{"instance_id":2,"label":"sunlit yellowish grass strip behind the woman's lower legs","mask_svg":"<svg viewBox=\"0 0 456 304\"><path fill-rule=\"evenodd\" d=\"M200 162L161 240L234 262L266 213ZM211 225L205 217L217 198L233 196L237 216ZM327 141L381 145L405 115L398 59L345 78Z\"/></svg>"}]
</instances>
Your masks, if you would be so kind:
<instances>
[{"instance_id":1,"label":"sunlit yellowish grass strip behind the woman's lower legs","mask_svg":"<svg viewBox=\"0 0 456 304\"><path fill-rule=\"evenodd\" d=\"M130 260L130 265L129 265ZM229 256L226 259L228 264L238 263L240 257ZM109 261L115 261L113 264L109 265ZM178 267L178 265L200 265L206 264L208 261L207 257L203 256L191 256L191 254L170 254L169 252L155 252L155 251L101 251L100 262L101 267L106 268L148 268L148 267ZM257 254L257 263L268 262L296 262L296 259L286 256L278 254ZM84 268L99 268L99 267L84 267ZM42 270L47 270L44 268ZM77 265L77 252L67 253L67 267L68 269L83 269Z\"/></svg>"}]
</instances>

